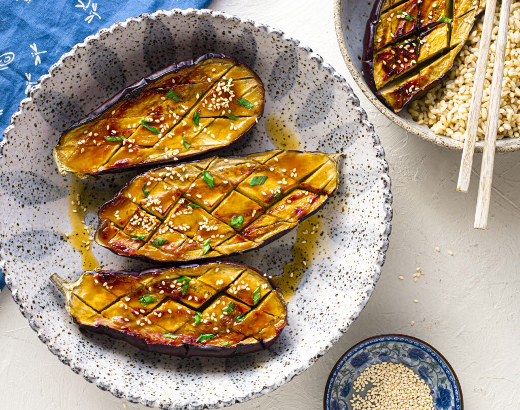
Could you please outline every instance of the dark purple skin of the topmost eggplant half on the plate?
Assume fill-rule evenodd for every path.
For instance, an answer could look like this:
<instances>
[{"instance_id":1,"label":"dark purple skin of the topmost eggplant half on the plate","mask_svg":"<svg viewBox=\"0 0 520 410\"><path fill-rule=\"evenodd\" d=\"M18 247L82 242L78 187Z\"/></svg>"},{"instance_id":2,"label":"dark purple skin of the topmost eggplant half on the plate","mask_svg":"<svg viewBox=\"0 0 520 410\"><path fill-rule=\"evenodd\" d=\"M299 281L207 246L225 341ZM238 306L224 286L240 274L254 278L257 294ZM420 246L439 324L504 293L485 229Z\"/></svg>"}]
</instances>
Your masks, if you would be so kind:
<instances>
[{"instance_id":1,"label":"dark purple skin of the topmost eggplant half on the plate","mask_svg":"<svg viewBox=\"0 0 520 410\"><path fill-rule=\"evenodd\" d=\"M79 127L81 125L85 125L88 122L97 120L99 117L101 117L101 115L103 113L110 110L111 107L118 104L119 102L137 97L142 91L145 90L145 88L148 86L148 84L150 84L153 81L159 80L163 75L170 74L172 72L175 72L175 71L177 71L181 68L187 67L187 66L197 65L198 63L200 63L202 61L209 60L212 58L231 59L236 64L240 64L246 68L249 68L251 70L251 72L253 73L256 81L258 81L258 83L262 86L262 88L265 89L262 79L259 78L259 76L256 74L256 72L251 67L249 67L246 63L239 61L236 58L228 56L226 54L206 53L197 58L189 58L189 59L186 59L183 61L174 62L171 65L161 68L160 70L155 71L154 73L146 76L145 78L142 78L142 79L136 81L135 83L128 85L127 87L122 89L120 92L114 94L112 97L110 97L105 102L103 102L99 107L97 107L93 111L91 111L85 118L83 118L80 121L75 122L74 124L69 126L66 130L64 130L60 136L60 141L61 141L62 136L65 135L66 133L68 133L69 131L71 131L72 129ZM265 109L265 104L262 105L262 111L260 112L258 119L263 117L264 109ZM239 139L243 138L243 136L245 134L247 134L254 125L255 125L255 123L252 124L247 130L245 130L238 138L233 140L233 142L237 142ZM59 141L58 141L58 144L59 144ZM103 174L113 174L113 173L124 172L124 171L146 169L146 168L151 168L152 166L156 166L156 165L162 165L162 166L170 165L170 164L175 164L177 162L183 162L187 159L194 158L194 157L203 157L206 154L214 152L220 148L224 148L224 146L212 148L212 149L206 150L202 153L194 153L193 155L183 156L183 158L180 161L176 161L172 158L172 159L155 161L153 163L142 163L142 164L130 165L130 166L121 167L121 168L107 169L107 170L102 170L102 171L99 171L96 173L87 173L84 175L86 178L97 179L100 175L103 175Z\"/></svg>"}]
</instances>

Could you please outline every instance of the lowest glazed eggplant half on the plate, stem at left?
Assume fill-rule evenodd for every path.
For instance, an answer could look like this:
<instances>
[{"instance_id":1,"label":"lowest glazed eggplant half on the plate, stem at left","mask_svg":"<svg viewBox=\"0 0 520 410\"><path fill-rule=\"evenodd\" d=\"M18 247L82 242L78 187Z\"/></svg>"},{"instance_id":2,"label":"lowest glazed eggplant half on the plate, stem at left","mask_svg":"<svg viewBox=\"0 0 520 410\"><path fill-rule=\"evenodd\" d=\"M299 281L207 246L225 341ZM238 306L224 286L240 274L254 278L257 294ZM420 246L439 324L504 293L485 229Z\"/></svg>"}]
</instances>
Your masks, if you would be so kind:
<instances>
[{"instance_id":1,"label":"lowest glazed eggplant half on the plate, stem at left","mask_svg":"<svg viewBox=\"0 0 520 410\"><path fill-rule=\"evenodd\" d=\"M233 262L50 279L80 327L148 352L237 356L267 349L287 325L278 286Z\"/></svg>"}]
</instances>

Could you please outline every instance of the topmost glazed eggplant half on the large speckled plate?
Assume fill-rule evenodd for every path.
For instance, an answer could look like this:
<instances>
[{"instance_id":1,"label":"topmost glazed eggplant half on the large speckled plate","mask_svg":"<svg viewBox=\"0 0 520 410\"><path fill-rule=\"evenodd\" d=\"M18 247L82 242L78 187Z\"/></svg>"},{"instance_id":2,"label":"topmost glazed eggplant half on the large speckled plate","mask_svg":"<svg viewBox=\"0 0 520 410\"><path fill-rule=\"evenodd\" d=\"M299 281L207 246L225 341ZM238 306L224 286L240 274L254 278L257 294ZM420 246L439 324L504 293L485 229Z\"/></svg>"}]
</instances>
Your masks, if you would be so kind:
<instances>
[{"instance_id":1,"label":"topmost glazed eggplant half on the large speckled plate","mask_svg":"<svg viewBox=\"0 0 520 410\"><path fill-rule=\"evenodd\" d=\"M80 178L173 163L228 146L262 116L264 86L221 54L173 63L115 94L64 132L62 175Z\"/></svg>"}]
</instances>

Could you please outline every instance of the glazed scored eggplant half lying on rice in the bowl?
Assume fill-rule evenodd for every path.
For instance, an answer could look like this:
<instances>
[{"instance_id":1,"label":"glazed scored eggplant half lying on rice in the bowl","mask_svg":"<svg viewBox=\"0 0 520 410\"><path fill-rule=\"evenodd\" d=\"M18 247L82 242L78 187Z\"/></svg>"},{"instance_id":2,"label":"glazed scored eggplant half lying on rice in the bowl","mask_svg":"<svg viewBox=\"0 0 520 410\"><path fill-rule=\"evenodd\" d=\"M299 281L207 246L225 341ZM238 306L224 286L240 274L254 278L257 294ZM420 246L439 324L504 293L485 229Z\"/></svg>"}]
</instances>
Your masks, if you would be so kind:
<instances>
[{"instance_id":1,"label":"glazed scored eggplant half lying on rice in the bowl","mask_svg":"<svg viewBox=\"0 0 520 410\"><path fill-rule=\"evenodd\" d=\"M394 112L453 66L482 12L479 0L379 0L363 40L363 75Z\"/></svg>"}]
</instances>

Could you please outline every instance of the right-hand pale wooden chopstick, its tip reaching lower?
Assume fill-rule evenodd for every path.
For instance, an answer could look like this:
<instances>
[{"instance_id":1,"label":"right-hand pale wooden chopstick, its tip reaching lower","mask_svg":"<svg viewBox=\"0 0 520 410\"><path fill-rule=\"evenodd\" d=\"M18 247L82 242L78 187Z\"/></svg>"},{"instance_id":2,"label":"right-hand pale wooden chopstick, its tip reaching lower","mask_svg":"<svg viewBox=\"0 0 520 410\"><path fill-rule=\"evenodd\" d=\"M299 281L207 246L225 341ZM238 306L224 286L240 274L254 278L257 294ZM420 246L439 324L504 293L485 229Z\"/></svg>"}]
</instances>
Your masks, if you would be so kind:
<instances>
[{"instance_id":1,"label":"right-hand pale wooden chopstick, its tip reaching lower","mask_svg":"<svg viewBox=\"0 0 520 410\"><path fill-rule=\"evenodd\" d=\"M489 95L488 121L486 126L486 136L484 138L484 154L482 157L482 169L480 170L480 182L478 184L477 209L475 212L474 227L477 229L487 228L487 219L489 215L491 181L493 179L493 165L495 164L498 115L500 110L500 99L502 97L505 47L508 43L508 25L511 2L512 0L502 0L502 8L500 10L497 48L495 50L495 63L493 64L493 78L491 80L491 91Z\"/></svg>"}]
</instances>

